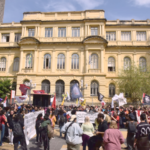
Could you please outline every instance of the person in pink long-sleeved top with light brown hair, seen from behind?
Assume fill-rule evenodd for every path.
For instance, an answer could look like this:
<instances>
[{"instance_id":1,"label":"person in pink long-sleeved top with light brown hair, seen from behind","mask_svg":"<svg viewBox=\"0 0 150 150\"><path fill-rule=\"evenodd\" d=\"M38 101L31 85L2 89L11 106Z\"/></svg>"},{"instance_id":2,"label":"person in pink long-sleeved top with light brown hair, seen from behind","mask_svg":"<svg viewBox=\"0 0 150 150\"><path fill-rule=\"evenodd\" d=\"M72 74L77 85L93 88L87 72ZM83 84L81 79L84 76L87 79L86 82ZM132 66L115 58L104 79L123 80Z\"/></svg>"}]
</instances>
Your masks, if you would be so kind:
<instances>
[{"instance_id":1,"label":"person in pink long-sleeved top with light brown hair, seen from behind","mask_svg":"<svg viewBox=\"0 0 150 150\"><path fill-rule=\"evenodd\" d=\"M124 138L121 131L118 129L117 123L112 121L109 129L103 136L105 150L121 150L121 144L124 143Z\"/></svg>"}]
</instances>

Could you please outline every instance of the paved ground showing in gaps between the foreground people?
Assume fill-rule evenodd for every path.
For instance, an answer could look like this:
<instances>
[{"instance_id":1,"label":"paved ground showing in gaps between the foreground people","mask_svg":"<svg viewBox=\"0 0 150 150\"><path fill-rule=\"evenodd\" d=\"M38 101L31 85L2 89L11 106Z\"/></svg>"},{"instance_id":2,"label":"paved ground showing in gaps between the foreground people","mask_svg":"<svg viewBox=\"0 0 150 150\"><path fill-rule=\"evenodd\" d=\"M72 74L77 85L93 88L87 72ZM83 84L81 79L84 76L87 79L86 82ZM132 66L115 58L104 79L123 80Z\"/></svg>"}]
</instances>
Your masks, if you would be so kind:
<instances>
[{"instance_id":1,"label":"paved ground showing in gaps between the foreground people","mask_svg":"<svg viewBox=\"0 0 150 150\"><path fill-rule=\"evenodd\" d=\"M127 136L126 130L121 129L121 132L124 138L126 139ZM59 137L59 129L57 126L55 129L55 138L51 140L50 146L51 146L50 148L51 150L67 150L67 145L65 140ZM122 145L122 148L123 147L126 147L126 143ZM13 150L13 146L4 143L4 146L0 147L0 150ZM35 138L33 138L30 140L30 144L28 145L28 150L43 150L43 147L39 147L38 144L35 144ZM81 150L82 150L82 146L81 146Z\"/></svg>"}]
</instances>

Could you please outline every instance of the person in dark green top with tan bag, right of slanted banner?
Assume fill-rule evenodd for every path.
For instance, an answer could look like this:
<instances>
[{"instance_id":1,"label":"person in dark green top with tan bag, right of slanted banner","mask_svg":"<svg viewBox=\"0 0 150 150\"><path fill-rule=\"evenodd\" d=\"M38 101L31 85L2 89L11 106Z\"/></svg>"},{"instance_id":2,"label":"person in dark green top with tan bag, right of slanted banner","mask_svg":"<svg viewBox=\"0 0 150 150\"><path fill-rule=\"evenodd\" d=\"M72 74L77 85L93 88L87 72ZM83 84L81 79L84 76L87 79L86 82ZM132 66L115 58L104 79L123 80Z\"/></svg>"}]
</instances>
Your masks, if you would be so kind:
<instances>
[{"instance_id":1,"label":"person in dark green top with tan bag, right of slanted banner","mask_svg":"<svg viewBox=\"0 0 150 150\"><path fill-rule=\"evenodd\" d=\"M44 116L44 121L41 123L40 126L40 132L43 141L42 143L44 144L44 150L50 150L50 139L53 137L53 129L51 125L52 122L49 119L49 114L46 114Z\"/></svg>"}]
</instances>

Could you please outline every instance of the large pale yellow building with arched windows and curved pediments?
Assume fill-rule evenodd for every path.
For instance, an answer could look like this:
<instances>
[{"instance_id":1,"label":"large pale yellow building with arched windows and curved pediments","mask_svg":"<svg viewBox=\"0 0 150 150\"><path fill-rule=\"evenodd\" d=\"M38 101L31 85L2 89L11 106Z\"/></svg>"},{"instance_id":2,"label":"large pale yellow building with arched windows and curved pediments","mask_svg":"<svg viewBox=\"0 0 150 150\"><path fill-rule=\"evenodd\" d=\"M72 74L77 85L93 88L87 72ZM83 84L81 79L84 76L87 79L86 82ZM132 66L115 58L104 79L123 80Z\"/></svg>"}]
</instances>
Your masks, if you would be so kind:
<instances>
[{"instance_id":1,"label":"large pale yellow building with arched windows and curved pediments","mask_svg":"<svg viewBox=\"0 0 150 150\"><path fill-rule=\"evenodd\" d=\"M106 20L103 10L25 12L20 23L0 24L0 76L19 85L32 80L36 90L87 89L88 103L105 101L116 92L118 70L131 61L150 63L150 20Z\"/></svg>"}]
</instances>

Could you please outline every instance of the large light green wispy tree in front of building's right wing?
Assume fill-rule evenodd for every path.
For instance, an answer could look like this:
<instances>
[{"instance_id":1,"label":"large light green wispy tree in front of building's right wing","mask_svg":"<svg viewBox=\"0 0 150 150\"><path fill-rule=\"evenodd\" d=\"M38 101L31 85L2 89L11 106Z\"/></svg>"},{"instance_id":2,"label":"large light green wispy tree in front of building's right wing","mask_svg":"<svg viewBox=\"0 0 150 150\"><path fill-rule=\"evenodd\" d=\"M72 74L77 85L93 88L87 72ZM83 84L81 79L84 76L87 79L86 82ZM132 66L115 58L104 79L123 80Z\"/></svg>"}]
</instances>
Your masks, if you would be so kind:
<instances>
[{"instance_id":1,"label":"large light green wispy tree in front of building's right wing","mask_svg":"<svg viewBox=\"0 0 150 150\"><path fill-rule=\"evenodd\" d=\"M128 68L119 71L117 84L119 92L132 102L141 102L143 93L150 95L150 70L131 63Z\"/></svg>"}]
</instances>

